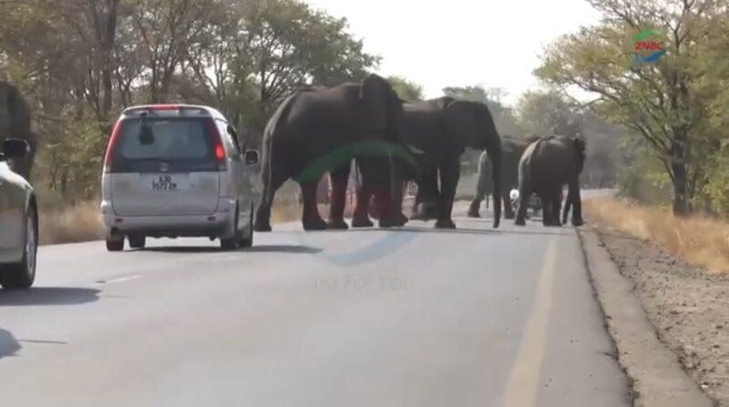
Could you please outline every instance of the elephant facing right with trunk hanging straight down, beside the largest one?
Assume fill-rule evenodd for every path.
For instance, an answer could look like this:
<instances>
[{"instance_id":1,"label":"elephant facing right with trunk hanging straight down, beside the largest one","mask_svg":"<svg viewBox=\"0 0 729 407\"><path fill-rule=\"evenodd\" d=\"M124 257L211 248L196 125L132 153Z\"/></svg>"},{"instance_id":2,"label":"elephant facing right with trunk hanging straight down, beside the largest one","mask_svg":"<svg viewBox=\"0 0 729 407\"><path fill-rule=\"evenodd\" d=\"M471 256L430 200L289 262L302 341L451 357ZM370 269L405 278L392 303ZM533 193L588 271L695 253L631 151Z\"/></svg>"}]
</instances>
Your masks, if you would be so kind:
<instances>
[{"instance_id":1,"label":"elephant facing right with trunk hanging straight down, beside the largest one","mask_svg":"<svg viewBox=\"0 0 729 407\"><path fill-rule=\"evenodd\" d=\"M453 229L453 200L460 178L460 157L465 148L486 149L493 164L494 228L501 217L501 139L493 117L483 103L439 97L405 105L406 144L418 151L416 201L435 206L436 228ZM400 181L408 177L401 177ZM413 177L410 177L413 178ZM440 186L438 187L438 178ZM402 182L395 183L395 208L402 210ZM356 214L355 214L356 215ZM358 219L353 225L360 224Z\"/></svg>"}]
</instances>

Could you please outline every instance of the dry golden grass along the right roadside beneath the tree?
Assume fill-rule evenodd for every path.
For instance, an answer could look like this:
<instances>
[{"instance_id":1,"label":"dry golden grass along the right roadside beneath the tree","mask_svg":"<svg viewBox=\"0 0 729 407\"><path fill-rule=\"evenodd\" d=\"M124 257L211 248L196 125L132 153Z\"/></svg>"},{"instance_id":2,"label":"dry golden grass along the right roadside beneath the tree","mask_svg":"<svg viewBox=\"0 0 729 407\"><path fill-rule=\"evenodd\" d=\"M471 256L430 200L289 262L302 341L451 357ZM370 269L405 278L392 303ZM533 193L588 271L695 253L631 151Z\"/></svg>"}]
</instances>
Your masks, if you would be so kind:
<instances>
[{"instance_id":1,"label":"dry golden grass along the right roadside beneath the tree","mask_svg":"<svg viewBox=\"0 0 729 407\"><path fill-rule=\"evenodd\" d=\"M681 219L668 209L615 198L584 201L585 216L599 226L650 239L673 255L712 272L729 272L729 223L693 216Z\"/></svg>"}]
</instances>

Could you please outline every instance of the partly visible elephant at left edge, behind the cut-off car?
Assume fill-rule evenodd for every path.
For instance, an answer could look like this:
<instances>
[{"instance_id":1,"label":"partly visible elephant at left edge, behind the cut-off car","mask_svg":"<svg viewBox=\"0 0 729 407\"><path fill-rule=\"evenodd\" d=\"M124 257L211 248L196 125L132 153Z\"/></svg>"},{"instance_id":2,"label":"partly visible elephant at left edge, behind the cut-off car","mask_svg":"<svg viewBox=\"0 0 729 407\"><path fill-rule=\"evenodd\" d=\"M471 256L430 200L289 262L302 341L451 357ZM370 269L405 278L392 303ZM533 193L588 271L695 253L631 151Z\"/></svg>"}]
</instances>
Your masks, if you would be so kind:
<instances>
[{"instance_id":1,"label":"partly visible elephant at left edge, behind the cut-off car","mask_svg":"<svg viewBox=\"0 0 729 407\"><path fill-rule=\"evenodd\" d=\"M15 159L13 169L30 180L33 161L36 158L36 134L30 129L30 108L17 87L0 81L0 140L22 138L30 145L26 158Z\"/></svg>"}]
</instances>

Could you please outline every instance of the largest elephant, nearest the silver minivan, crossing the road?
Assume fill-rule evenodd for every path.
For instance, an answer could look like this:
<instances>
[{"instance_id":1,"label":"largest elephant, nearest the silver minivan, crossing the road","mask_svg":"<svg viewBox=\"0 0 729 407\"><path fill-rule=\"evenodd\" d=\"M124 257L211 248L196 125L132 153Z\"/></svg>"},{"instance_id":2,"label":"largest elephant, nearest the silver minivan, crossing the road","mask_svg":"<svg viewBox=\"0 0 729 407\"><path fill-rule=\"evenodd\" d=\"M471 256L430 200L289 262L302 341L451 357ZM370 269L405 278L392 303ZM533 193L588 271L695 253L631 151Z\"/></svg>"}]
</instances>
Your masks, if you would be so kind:
<instances>
[{"instance_id":1,"label":"largest elephant, nearest the silver minivan, crossing the road","mask_svg":"<svg viewBox=\"0 0 729 407\"><path fill-rule=\"evenodd\" d=\"M286 98L263 136L261 205L255 229L271 230L273 197L289 178L302 188L303 229L345 229L344 199L352 158L368 191L375 195L380 226L393 223L389 148L402 148L403 102L387 81L376 75L362 83L306 88ZM325 171L332 178L329 222L319 215L316 186Z\"/></svg>"}]
</instances>

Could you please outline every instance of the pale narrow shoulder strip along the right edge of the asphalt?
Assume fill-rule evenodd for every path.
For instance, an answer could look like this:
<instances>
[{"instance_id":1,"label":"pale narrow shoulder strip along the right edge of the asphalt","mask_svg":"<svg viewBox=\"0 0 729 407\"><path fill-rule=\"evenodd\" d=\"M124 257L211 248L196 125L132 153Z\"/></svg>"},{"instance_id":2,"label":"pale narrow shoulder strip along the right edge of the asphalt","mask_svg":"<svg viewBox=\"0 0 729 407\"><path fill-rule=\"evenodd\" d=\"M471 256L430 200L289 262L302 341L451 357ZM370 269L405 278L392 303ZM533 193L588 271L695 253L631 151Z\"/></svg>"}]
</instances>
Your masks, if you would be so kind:
<instances>
[{"instance_id":1,"label":"pale narrow shoulder strip along the right edge of the asphalt","mask_svg":"<svg viewBox=\"0 0 729 407\"><path fill-rule=\"evenodd\" d=\"M641 300L633 294L631 281L621 274L598 234L585 228L579 235L608 331L618 349L618 361L632 381L635 405L714 405L659 340Z\"/></svg>"}]
</instances>

